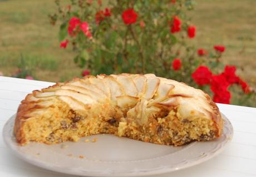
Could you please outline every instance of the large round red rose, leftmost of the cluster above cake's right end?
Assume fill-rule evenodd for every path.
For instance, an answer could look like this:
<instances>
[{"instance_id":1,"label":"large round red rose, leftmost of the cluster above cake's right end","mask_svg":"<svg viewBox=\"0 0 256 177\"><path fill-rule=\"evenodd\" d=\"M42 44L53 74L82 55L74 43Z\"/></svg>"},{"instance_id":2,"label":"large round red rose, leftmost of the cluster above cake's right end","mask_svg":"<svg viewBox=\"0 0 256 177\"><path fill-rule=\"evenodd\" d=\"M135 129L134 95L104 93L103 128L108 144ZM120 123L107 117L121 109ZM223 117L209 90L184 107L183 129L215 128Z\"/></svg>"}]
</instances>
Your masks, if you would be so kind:
<instances>
[{"instance_id":1,"label":"large round red rose, leftmost of the cluster above cake's right end","mask_svg":"<svg viewBox=\"0 0 256 177\"><path fill-rule=\"evenodd\" d=\"M211 72L208 67L201 65L192 74L192 78L198 85L210 84L211 82Z\"/></svg>"}]
</instances>

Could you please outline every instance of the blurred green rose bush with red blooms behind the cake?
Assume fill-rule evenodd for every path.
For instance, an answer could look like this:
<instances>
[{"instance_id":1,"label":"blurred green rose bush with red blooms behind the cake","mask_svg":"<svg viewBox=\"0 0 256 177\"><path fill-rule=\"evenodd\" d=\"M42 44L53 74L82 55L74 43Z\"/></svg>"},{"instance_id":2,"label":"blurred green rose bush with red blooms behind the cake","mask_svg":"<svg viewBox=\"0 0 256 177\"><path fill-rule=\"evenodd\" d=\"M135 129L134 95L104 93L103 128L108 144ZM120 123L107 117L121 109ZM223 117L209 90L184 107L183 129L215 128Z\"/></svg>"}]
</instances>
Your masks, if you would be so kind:
<instances>
[{"instance_id":1,"label":"blurred green rose bush with red blooms behind the cake","mask_svg":"<svg viewBox=\"0 0 256 177\"><path fill-rule=\"evenodd\" d=\"M221 62L225 46L206 50L190 44L196 37L196 27L186 16L193 9L191 0L71 0L67 6L57 0L56 5L50 22L61 22L60 47L73 49L74 62L85 68L83 76L155 73L206 90L218 103L230 103L232 85L253 95L236 68Z\"/></svg>"}]
</instances>

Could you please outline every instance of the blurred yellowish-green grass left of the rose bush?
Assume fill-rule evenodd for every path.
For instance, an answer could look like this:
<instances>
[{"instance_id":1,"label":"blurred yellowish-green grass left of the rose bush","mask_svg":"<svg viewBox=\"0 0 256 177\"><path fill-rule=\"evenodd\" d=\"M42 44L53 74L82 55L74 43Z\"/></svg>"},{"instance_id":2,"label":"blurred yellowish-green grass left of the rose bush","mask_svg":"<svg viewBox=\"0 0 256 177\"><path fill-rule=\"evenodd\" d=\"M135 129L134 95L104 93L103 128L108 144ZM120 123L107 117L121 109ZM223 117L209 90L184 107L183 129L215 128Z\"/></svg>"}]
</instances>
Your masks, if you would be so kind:
<instances>
[{"instance_id":1,"label":"blurred yellowish-green grass left of the rose bush","mask_svg":"<svg viewBox=\"0 0 256 177\"><path fill-rule=\"evenodd\" d=\"M18 69L21 54L28 69L39 80L57 82L81 74L73 64L71 49L61 49L58 26L51 26L47 15L55 12L54 2L0 1L0 70L11 75Z\"/></svg>"}]
</instances>

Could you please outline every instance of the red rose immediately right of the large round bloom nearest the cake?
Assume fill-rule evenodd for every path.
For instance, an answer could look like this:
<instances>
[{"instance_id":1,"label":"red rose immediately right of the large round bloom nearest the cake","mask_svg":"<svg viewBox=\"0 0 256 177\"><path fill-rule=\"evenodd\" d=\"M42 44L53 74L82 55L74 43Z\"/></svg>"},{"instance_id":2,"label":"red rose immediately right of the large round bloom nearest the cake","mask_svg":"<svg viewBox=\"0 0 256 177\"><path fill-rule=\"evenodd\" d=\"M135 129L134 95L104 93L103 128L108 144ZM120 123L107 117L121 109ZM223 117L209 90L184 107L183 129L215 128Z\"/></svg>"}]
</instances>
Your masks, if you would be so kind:
<instances>
[{"instance_id":1,"label":"red rose immediately right of the large round bloom nearest the cake","mask_svg":"<svg viewBox=\"0 0 256 177\"><path fill-rule=\"evenodd\" d=\"M213 93L215 94L218 94L219 92L224 92L225 90L228 89L230 85L223 74L213 75L213 77L211 77L210 84L211 84L211 87L210 87L211 91L213 91Z\"/></svg>"}]
</instances>

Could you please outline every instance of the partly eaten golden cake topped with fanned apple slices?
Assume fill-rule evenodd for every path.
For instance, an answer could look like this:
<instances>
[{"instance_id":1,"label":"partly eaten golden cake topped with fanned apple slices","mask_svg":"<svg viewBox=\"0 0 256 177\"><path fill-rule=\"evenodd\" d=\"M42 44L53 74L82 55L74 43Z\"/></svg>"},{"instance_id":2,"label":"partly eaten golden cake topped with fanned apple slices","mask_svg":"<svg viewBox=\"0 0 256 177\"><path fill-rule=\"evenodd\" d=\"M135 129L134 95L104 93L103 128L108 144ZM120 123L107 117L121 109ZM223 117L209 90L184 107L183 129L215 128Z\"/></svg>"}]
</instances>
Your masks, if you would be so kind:
<instances>
[{"instance_id":1,"label":"partly eaten golden cake topped with fanned apple slices","mask_svg":"<svg viewBox=\"0 0 256 177\"><path fill-rule=\"evenodd\" d=\"M223 119L208 94L154 74L100 74L28 94L14 123L17 143L114 134L180 146L218 138Z\"/></svg>"}]
</instances>

